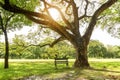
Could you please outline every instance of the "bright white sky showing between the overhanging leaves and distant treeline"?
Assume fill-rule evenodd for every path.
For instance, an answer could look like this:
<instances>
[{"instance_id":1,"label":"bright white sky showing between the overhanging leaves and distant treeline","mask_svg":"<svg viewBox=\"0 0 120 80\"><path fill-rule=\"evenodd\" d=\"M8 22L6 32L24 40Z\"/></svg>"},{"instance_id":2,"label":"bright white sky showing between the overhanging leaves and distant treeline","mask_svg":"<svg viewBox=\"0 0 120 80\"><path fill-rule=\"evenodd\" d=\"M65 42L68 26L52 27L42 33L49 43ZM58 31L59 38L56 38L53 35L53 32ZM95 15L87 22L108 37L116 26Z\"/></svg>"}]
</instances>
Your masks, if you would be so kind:
<instances>
[{"instance_id":1,"label":"bright white sky showing between the overhanging leaves and distant treeline","mask_svg":"<svg viewBox=\"0 0 120 80\"><path fill-rule=\"evenodd\" d=\"M14 37L15 34L24 34L26 35L28 33L29 30L35 30L37 28L35 27L24 27L21 31L16 31L16 32L10 32L9 33L9 40L12 41L12 38ZM102 42L105 45L119 45L120 46L120 39L118 38L114 38L111 37L110 34L107 33L107 31L103 31L99 28L96 28L93 31L92 37L91 39L93 40L99 40L100 42ZM0 41L4 41L3 36L1 36Z\"/></svg>"}]
</instances>

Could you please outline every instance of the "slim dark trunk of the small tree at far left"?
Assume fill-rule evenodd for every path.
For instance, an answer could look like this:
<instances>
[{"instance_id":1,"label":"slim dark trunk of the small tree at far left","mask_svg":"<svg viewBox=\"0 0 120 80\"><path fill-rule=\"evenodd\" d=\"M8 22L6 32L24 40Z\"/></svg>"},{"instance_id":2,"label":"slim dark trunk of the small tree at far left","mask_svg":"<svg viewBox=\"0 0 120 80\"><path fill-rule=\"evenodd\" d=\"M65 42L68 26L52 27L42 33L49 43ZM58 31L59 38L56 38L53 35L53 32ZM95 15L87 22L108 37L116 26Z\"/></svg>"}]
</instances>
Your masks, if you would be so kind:
<instances>
[{"instance_id":1,"label":"slim dark trunk of the small tree at far left","mask_svg":"<svg viewBox=\"0 0 120 80\"><path fill-rule=\"evenodd\" d=\"M4 30L4 35L5 35L5 63L4 63L4 68L7 69L7 68L9 68L9 64L8 64L9 42L8 42L8 35L7 35L6 30Z\"/></svg>"}]
</instances>

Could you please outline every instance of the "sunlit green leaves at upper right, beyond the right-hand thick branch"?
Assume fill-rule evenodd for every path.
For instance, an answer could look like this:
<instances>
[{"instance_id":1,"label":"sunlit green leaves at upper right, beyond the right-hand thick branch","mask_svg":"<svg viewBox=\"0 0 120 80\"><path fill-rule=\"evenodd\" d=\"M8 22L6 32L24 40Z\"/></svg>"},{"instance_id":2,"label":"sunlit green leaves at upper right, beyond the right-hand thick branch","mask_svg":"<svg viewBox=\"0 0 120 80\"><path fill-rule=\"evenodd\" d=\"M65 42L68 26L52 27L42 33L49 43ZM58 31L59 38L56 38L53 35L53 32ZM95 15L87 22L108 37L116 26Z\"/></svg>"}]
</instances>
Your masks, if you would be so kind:
<instances>
[{"instance_id":1,"label":"sunlit green leaves at upper right, beyond the right-hand thick branch","mask_svg":"<svg viewBox=\"0 0 120 80\"><path fill-rule=\"evenodd\" d=\"M101 16L103 16L99 21L103 28L113 27L116 23L120 22L120 2L118 1L115 5L105 10ZM113 16L114 15L114 16Z\"/></svg>"}]
</instances>

